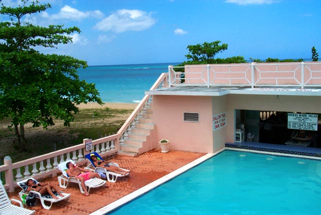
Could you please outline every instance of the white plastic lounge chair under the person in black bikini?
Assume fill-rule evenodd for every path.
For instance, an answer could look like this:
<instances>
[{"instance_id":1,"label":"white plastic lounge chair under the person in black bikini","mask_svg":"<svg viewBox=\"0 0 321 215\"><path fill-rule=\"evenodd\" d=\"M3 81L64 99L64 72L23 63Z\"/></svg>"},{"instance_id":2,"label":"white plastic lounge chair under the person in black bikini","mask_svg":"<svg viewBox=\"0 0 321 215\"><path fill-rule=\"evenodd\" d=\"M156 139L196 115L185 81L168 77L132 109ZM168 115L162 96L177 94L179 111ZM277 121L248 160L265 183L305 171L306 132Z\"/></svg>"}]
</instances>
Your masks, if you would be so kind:
<instances>
[{"instance_id":1,"label":"white plastic lounge chair under the person in black bikini","mask_svg":"<svg viewBox=\"0 0 321 215\"><path fill-rule=\"evenodd\" d=\"M35 183L38 183L38 181L32 177L19 181L17 184L22 188L22 190L19 192L20 199L23 199L23 195L28 195L30 192L34 193L35 197L40 199L42 206L47 210L50 210L50 208L52 207L52 204L54 202L58 202L58 201L62 201L62 200L66 200L66 201L69 200L70 193L62 192L64 194L64 196L60 196L58 193L56 194L56 192L54 191L55 195L58 197L58 199L54 199L50 194L41 195L39 192L34 191L34 190L31 190L28 192L27 191L28 185L26 184L26 182L29 179L33 179L33 181ZM50 203L50 205L45 204L45 201L48 201Z\"/></svg>"}]
</instances>

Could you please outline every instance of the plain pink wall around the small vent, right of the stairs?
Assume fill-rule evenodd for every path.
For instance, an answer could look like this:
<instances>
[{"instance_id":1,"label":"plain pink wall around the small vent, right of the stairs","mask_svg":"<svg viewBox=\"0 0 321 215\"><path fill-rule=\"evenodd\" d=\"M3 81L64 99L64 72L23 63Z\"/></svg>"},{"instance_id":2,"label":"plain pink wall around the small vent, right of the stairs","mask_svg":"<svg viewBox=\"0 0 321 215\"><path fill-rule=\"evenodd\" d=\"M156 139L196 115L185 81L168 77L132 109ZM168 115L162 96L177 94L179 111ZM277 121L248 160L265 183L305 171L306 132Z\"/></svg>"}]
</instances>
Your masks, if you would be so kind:
<instances>
[{"instance_id":1,"label":"plain pink wall around the small vent, right of the stairs","mask_svg":"<svg viewBox=\"0 0 321 215\"><path fill-rule=\"evenodd\" d=\"M212 97L153 96L156 139L171 141L170 149L213 152ZM184 122L183 112L200 113L200 122Z\"/></svg>"}]
</instances>

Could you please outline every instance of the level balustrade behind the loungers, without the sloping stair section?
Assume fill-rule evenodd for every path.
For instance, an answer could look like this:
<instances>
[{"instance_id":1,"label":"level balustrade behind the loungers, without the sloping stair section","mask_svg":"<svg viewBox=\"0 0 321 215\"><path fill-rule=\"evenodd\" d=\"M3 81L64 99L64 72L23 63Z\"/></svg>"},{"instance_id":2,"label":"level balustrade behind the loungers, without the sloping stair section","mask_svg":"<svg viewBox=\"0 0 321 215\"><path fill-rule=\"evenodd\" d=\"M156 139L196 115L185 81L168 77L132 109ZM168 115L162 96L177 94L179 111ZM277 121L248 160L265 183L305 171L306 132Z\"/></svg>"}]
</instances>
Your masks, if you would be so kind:
<instances>
[{"instance_id":1,"label":"level balustrade behind the loungers, without the sloping stair section","mask_svg":"<svg viewBox=\"0 0 321 215\"><path fill-rule=\"evenodd\" d=\"M111 136L103 137L92 141L95 151L102 156L113 154L117 152L119 148L119 135L114 134ZM84 140L85 141L85 140ZM105 147L105 143L108 142L108 147ZM109 143L111 142L111 147ZM76 146L61 149L55 152L30 158L27 160L12 163L9 156L4 159L4 165L0 166L0 172L5 172L4 186L8 191L14 191L17 182L28 178L30 176L35 179L45 177L48 175L55 176L59 172L58 164L66 160L72 159L79 164L83 164L84 155L90 153L86 151L85 142Z\"/></svg>"}]
</instances>

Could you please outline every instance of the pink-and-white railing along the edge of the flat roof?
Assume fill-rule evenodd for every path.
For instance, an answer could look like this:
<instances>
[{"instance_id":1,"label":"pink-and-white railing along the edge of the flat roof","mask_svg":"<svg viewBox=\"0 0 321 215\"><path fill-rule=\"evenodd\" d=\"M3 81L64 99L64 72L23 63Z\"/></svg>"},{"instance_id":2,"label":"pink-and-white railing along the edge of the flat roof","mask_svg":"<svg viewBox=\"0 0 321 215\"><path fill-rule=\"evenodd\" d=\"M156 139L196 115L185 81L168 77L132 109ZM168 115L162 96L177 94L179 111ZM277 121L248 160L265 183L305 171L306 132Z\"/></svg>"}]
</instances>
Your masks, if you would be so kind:
<instances>
[{"instance_id":1,"label":"pink-and-white railing along the edge of the flat roof","mask_svg":"<svg viewBox=\"0 0 321 215\"><path fill-rule=\"evenodd\" d=\"M169 66L169 87L264 86L311 88L321 86L321 63L246 63Z\"/></svg>"}]
</instances>

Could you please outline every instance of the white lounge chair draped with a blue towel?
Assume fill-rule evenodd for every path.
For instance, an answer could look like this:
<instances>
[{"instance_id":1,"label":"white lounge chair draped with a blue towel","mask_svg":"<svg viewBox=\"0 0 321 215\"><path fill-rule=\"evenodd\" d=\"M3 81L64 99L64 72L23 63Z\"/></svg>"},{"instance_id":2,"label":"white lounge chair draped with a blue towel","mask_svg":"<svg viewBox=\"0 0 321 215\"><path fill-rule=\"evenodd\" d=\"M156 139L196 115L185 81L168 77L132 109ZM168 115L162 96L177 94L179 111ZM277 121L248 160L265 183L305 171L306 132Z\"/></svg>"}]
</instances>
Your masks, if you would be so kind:
<instances>
[{"instance_id":1,"label":"white lounge chair draped with a blue towel","mask_svg":"<svg viewBox=\"0 0 321 215\"><path fill-rule=\"evenodd\" d=\"M90 161L90 164L88 166L85 167L85 169L89 169L95 172L99 172L104 173L106 175L106 178L109 182L113 182L115 183L118 177L124 177L124 176L128 176L129 172L126 173L125 175L119 174L119 173L115 173L115 172L111 172L111 171L107 171L105 168L103 167L99 167L99 166L95 166L94 162L90 159L90 156L94 154L98 159L102 159L101 156L97 153L97 152L92 152L90 154L86 154L85 157ZM117 166L118 168L119 165L117 163L108 163L109 165L114 165ZM123 168L120 168L123 169ZM129 171L128 169L123 169L124 171Z\"/></svg>"}]
</instances>

